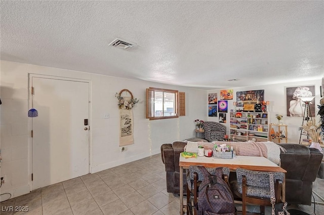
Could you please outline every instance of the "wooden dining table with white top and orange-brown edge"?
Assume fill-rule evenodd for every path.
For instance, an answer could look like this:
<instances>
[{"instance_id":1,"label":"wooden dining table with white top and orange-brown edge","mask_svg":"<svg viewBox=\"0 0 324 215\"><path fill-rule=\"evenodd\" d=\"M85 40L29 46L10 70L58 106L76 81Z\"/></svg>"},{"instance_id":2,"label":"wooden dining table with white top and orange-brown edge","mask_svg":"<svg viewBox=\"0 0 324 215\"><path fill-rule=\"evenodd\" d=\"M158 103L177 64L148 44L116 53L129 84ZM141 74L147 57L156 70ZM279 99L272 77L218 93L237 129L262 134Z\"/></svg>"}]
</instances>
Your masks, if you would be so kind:
<instances>
[{"instance_id":1,"label":"wooden dining table with white top and orange-brown edge","mask_svg":"<svg viewBox=\"0 0 324 215\"><path fill-rule=\"evenodd\" d=\"M188 169L190 165L205 166L205 167L228 167L230 171L235 171L237 168L244 168L257 171L273 171L285 173L284 181L282 182L282 201L285 201L286 190L286 173L287 171L265 157L257 156L236 156L232 159L214 158L214 157L192 157L185 158L180 155L180 215L183 214L183 169Z\"/></svg>"}]
</instances>

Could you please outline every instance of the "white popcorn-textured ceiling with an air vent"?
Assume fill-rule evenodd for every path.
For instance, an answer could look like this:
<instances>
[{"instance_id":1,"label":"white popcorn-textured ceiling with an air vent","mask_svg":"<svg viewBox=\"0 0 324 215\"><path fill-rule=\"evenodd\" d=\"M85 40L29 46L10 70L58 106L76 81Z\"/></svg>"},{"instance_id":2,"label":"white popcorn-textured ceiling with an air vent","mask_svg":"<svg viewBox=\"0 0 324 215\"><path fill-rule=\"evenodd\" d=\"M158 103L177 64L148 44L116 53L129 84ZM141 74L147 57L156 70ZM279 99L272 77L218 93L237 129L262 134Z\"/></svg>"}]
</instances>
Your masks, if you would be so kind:
<instances>
[{"instance_id":1,"label":"white popcorn-textured ceiling with an air vent","mask_svg":"<svg viewBox=\"0 0 324 215\"><path fill-rule=\"evenodd\" d=\"M198 89L320 79L324 2L1 1L1 59Z\"/></svg>"}]
</instances>

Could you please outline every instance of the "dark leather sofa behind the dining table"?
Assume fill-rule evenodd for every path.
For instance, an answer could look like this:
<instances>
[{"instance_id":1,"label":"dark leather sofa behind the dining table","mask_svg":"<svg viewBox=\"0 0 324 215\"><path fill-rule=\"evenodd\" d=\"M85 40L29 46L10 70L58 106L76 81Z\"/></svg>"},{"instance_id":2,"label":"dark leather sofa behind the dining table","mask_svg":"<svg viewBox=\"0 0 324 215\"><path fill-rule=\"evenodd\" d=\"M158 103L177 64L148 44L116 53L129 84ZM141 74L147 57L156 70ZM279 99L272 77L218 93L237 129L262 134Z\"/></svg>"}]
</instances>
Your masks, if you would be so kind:
<instances>
[{"instance_id":1,"label":"dark leather sofa behind the dining table","mask_svg":"<svg viewBox=\"0 0 324 215\"><path fill-rule=\"evenodd\" d=\"M244 143L242 143L244 144ZM179 156L186 142L175 141L161 145L161 158L165 164L167 192L180 193ZM316 179L323 157L317 149L300 144L278 144L287 152L280 154L281 167L286 174L286 201L291 204L311 204L312 183ZM236 177L235 177L236 178ZM186 176L183 175L183 191L186 192Z\"/></svg>"}]
</instances>

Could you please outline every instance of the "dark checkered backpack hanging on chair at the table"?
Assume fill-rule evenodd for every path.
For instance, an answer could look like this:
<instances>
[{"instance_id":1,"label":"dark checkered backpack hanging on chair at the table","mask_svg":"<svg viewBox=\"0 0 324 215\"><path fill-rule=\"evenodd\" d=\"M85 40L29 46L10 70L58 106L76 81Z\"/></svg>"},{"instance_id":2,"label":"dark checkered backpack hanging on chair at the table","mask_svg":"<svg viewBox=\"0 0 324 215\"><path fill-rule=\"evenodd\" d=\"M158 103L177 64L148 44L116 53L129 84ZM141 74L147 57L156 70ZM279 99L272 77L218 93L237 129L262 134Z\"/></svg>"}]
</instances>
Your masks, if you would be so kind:
<instances>
[{"instance_id":1,"label":"dark checkered backpack hanging on chair at the table","mask_svg":"<svg viewBox=\"0 0 324 215\"><path fill-rule=\"evenodd\" d=\"M222 167L215 169L215 175L210 175L204 166L198 168L204 176L196 205L198 215L235 215L233 194L222 179Z\"/></svg>"}]
</instances>

